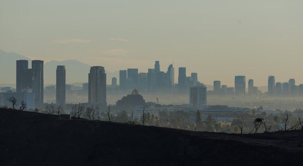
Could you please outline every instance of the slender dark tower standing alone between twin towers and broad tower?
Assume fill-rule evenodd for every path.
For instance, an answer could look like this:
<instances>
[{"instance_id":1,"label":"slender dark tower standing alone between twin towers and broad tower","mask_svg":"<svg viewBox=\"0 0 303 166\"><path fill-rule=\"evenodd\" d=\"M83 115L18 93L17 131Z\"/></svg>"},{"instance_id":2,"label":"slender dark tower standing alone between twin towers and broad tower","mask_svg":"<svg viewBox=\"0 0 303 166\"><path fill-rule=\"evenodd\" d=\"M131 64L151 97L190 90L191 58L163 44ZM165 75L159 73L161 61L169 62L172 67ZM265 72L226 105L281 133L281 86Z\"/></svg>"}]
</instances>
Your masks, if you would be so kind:
<instances>
[{"instance_id":1,"label":"slender dark tower standing alone between twin towers and broad tower","mask_svg":"<svg viewBox=\"0 0 303 166\"><path fill-rule=\"evenodd\" d=\"M65 107L65 66L57 66L56 70L56 104Z\"/></svg>"}]
</instances>

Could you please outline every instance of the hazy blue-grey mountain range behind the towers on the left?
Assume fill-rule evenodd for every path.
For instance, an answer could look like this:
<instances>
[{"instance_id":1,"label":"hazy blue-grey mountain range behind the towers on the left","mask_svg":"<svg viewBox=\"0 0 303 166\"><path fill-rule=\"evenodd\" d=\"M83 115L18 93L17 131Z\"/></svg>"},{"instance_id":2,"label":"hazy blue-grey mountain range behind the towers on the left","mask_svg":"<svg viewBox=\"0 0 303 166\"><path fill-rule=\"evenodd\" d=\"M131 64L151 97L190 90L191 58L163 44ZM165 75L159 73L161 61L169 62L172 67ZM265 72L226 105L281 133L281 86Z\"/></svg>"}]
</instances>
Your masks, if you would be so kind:
<instances>
[{"instance_id":1,"label":"hazy blue-grey mountain range behind the towers on the left","mask_svg":"<svg viewBox=\"0 0 303 166\"><path fill-rule=\"evenodd\" d=\"M16 53L7 53L0 50L0 83L13 84L16 82L16 60L28 60L28 67L31 66L31 59ZM44 63L44 84L56 84L56 68L57 65L65 65L66 69L66 83L81 83L88 82L88 73L90 65L79 62L77 60L65 60ZM106 83L112 83L112 77L119 79L119 71L108 72L105 70Z\"/></svg>"}]
</instances>

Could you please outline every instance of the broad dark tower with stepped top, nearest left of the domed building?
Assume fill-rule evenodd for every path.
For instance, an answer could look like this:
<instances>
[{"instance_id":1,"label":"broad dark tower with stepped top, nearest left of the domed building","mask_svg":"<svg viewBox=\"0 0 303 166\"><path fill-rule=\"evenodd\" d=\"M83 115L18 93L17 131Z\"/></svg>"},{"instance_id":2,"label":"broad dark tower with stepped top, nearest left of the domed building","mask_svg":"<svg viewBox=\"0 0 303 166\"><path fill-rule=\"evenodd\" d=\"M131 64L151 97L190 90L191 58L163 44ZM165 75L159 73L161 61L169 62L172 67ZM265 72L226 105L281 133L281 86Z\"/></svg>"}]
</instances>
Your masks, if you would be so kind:
<instances>
[{"instance_id":1,"label":"broad dark tower with stepped top, nearest left of the domed building","mask_svg":"<svg viewBox=\"0 0 303 166\"><path fill-rule=\"evenodd\" d=\"M88 103L107 105L106 73L102 66L93 66L88 73Z\"/></svg>"}]
</instances>

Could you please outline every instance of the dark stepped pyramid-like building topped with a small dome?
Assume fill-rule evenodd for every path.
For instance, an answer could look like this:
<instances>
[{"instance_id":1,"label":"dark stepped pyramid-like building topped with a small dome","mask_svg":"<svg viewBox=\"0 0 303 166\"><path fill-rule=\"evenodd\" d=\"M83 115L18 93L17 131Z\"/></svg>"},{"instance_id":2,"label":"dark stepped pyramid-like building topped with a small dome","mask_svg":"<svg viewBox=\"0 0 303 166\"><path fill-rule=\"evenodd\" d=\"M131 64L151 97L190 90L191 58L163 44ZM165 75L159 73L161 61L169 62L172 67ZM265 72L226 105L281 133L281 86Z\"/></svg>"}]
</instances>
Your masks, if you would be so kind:
<instances>
[{"instance_id":1,"label":"dark stepped pyramid-like building topped with a small dome","mask_svg":"<svg viewBox=\"0 0 303 166\"><path fill-rule=\"evenodd\" d=\"M136 89L132 91L132 94L128 94L116 102L116 106L118 107L135 107L144 104L145 100L143 99L143 96L139 94Z\"/></svg>"}]
</instances>

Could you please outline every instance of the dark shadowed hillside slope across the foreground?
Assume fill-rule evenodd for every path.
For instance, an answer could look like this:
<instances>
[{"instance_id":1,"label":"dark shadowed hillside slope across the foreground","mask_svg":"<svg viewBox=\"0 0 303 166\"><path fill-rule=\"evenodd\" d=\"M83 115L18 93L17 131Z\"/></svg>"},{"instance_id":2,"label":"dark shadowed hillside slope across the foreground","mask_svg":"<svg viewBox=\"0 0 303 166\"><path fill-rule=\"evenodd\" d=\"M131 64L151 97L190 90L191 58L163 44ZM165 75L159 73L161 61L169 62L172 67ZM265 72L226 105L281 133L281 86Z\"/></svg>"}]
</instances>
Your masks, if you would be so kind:
<instances>
[{"instance_id":1,"label":"dark shadowed hillside slope across the foreground","mask_svg":"<svg viewBox=\"0 0 303 166\"><path fill-rule=\"evenodd\" d=\"M0 165L288 165L303 131L236 135L0 109Z\"/></svg>"}]
</instances>

